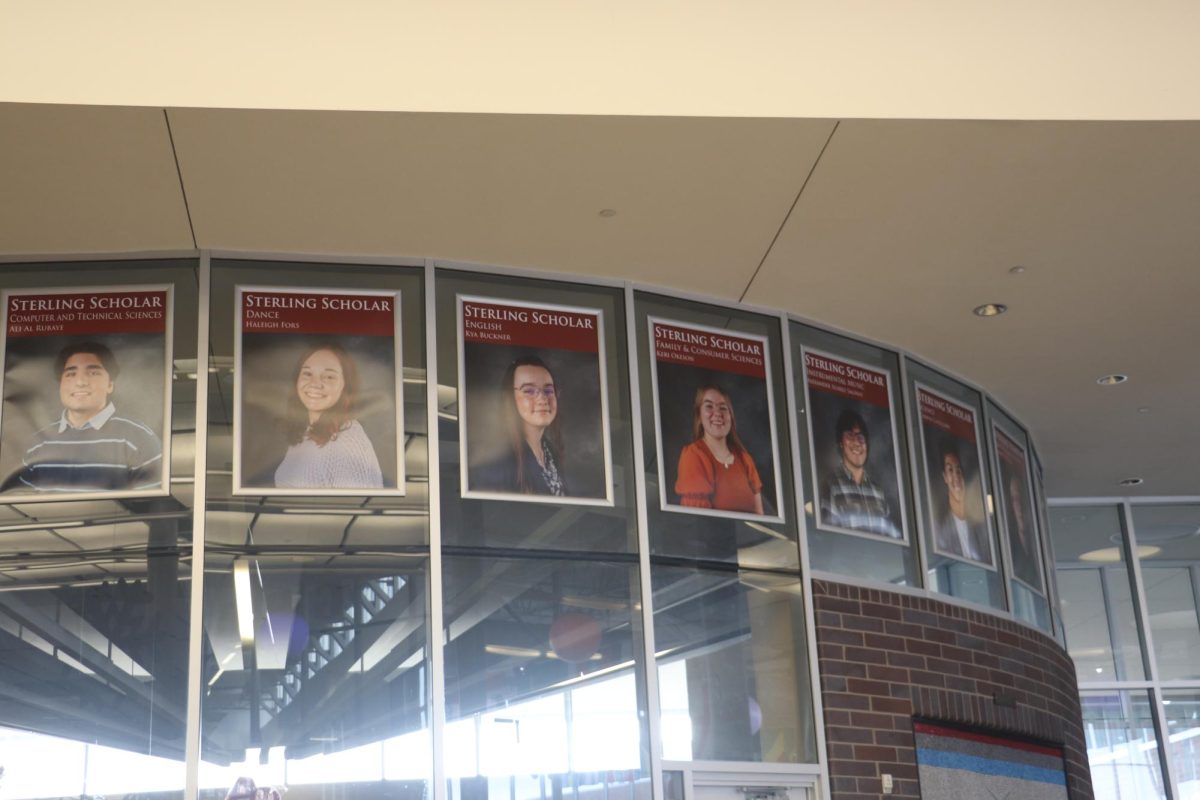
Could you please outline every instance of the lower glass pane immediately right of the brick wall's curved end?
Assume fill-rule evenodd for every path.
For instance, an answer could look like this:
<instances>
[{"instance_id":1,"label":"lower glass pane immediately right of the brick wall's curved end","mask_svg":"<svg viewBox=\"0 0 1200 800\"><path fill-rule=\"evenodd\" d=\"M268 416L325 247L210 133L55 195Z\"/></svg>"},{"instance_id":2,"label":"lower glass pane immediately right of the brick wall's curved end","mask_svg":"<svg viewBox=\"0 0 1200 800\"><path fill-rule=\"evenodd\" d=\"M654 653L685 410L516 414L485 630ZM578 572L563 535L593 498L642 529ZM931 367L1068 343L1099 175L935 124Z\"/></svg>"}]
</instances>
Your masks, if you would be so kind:
<instances>
[{"instance_id":1,"label":"lower glass pane immediately right of the brick wall's curved end","mask_svg":"<svg viewBox=\"0 0 1200 800\"><path fill-rule=\"evenodd\" d=\"M1165 800L1162 753L1146 692L1082 692L1096 800Z\"/></svg>"}]
</instances>

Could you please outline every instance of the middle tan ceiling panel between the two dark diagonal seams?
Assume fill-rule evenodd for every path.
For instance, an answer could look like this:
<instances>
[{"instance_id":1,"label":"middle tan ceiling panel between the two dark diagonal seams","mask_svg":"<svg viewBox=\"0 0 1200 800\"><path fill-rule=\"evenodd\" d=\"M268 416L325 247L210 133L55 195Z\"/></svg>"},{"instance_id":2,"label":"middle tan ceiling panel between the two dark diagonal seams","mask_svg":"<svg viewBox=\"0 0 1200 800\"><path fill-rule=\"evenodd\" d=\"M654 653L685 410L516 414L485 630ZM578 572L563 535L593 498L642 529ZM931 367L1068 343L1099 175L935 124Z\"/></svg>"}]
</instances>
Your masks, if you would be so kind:
<instances>
[{"instance_id":1,"label":"middle tan ceiling panel between the two dark diagonal seams","mask_svg":"<svg viewBox=\"0 0 1200 800\"><path fill-rule=\"evenodd\" d=\"M746 285L832 128L198 109L170 119L200 247L439 257L722 297Z\"/></svg>"}]
</instances>

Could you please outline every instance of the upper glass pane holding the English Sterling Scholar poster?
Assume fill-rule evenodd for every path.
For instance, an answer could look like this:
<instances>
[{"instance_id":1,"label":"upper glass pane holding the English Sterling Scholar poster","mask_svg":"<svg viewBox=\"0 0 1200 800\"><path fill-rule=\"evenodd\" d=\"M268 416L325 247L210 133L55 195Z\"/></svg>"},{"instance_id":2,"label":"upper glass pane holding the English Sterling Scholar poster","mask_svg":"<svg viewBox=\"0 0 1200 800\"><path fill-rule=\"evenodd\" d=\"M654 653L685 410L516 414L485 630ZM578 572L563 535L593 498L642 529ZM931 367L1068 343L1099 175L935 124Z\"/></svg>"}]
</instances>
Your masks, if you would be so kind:
<instances>
[{"instance_id":1,"label":"upper glass pane holding the English Sterling Scholar poster","mask_svg":"<svg viewBox=\"0 0 1200 800\"><path fill-rule=\"evenodd\" d=\"M503 317L512 312L527 320L577 314L581 317L571 319L600 330L576 341L566 332L574 329L547 323L522 329L532 337L521 339L523 343L510 342L504 331L485 330L479 333L482 341L463 341L460 360L460 297L473 302L479 313ZM437 303L443 543L635 552L624 293L443 270L437 277ZM473 323L472 331L504 324ZM518 393L521 386L505 383L520 378L528 384L527 378L534 380L529 375L541 383L540 393L538 386L524 385L530 392L526 397ZM458 385L460 379L466 386ZM499 391L502 384L505 386ZM528 419L521 416L522 404L529 404ZM541 419L535 419L538 415ZM464 425L469 429L466 441ZM527 435L536 435L541 458ZM461 447L470 453L466 469ZM544 449L552 453L553 481L560 495L546 482L551 479L539 477L551 469ZM463 497L463 473L469 498ZM608 479L611 501L605 499Z\"/></svg>"}]
</instances>

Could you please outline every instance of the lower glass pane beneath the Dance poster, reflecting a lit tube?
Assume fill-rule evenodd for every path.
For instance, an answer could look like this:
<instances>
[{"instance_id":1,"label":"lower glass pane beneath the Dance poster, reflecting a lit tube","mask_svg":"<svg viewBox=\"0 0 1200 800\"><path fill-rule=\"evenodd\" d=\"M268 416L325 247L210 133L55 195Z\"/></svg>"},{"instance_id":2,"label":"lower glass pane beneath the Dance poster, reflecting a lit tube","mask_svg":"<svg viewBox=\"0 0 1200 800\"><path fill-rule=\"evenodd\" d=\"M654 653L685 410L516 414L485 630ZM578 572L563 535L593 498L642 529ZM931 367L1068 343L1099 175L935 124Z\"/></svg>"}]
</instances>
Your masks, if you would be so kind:
<instances>
[{"instance_id":1,"label":"lower glass pane beneath the Dance poster, reflecting a lit tube","mask_svg":"<svg viewBox=\"0 0 1200 800\"><path fill-rule=\"evenodd\" d=\"M426 790L427 570L422 554L210 551L206 796L224 796L241 777L258 788Z\"/></svg>"}]
</instances>

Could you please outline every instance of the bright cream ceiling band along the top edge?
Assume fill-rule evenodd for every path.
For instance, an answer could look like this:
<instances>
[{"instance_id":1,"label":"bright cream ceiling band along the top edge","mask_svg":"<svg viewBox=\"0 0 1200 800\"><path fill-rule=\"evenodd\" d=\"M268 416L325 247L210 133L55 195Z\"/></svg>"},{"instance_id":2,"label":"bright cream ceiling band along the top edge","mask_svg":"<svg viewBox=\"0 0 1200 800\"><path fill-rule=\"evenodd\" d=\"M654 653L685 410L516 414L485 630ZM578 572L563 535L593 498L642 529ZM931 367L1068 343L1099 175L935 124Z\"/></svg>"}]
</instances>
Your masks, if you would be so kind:
<instances>
[{"instance_id":1,"label":"bright cream ceiling band along the top edge","mask_svg":"<svg viewBox=\"0 0 1200 800\"><path fill-rule=\"evenodd\" d=\"M0 0L0 98L1196 119L1198 30L1193 0Z\"/></svg>"}]
</instances>

